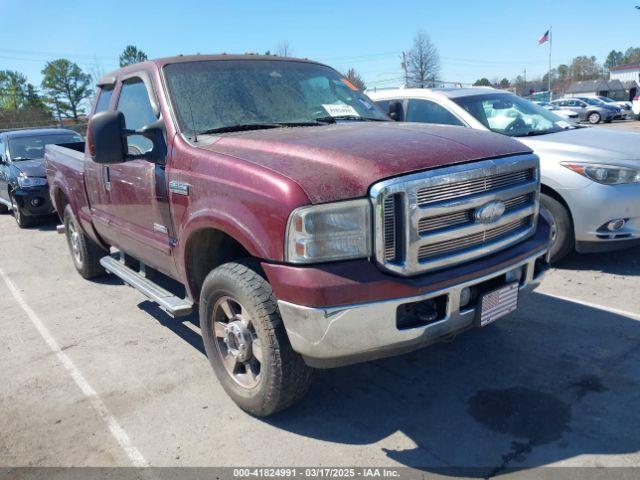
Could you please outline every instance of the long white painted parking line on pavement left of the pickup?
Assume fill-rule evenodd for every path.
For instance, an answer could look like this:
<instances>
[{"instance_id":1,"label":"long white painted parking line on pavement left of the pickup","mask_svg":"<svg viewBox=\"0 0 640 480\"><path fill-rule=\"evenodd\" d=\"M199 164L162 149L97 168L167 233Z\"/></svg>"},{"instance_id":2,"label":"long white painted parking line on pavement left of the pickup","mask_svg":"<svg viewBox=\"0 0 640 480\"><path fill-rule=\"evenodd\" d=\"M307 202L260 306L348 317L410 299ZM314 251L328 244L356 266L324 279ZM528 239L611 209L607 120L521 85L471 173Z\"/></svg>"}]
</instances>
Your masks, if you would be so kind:
<instances>
[{"instance_id":1,"label":"long white painted parking line on pavement left of the pickup","mask_svg":"<svg viewBox=\"0 0 640 480\"><path fill-rule=\"evenodd\" d=\"M118 444L127 454L127 457L129 457L131 464L134 467L149 466L148 462L142 456L142 453L140 453L140 450L138 450L134 445L131 444L131 440L129 439L129 435L127 435L127 432L124 431L115 417L111 415L107 406L104 404L93 387L89 384L89 382L87 382L80 370L78 370L78 367L76 367L73 361L60 349L58 342L56 342L56 340L51 336L51 333L49 333L47 327L44 326L40 318L38 318L36 313L31 309L27 302L25 302L15 284L2 271L2 269L0 269L0 277L2 277L4 283L7 285L7 288L9 288L9 291L13 295L13 298L15 298L16 302L18 302L18 305L22 307L24 312L29 317L29 320L31 320L33 326L36 327L36 330L38 330L38 333L40 333L51 351L56 354L56 357L58 357L58 360L60 360L62 365L64 365L64 368L67 369L69 375L71 375L71 378L73 378L73 380L76 382L76 385L78 385L82 393L89 399L89 401L91 402L91 406L96 410L96 412L98 412L98 415L100 415L102 420L104 420L104 422L107 424L111 435L113 435Z\"/></svg>"}]
</instances>

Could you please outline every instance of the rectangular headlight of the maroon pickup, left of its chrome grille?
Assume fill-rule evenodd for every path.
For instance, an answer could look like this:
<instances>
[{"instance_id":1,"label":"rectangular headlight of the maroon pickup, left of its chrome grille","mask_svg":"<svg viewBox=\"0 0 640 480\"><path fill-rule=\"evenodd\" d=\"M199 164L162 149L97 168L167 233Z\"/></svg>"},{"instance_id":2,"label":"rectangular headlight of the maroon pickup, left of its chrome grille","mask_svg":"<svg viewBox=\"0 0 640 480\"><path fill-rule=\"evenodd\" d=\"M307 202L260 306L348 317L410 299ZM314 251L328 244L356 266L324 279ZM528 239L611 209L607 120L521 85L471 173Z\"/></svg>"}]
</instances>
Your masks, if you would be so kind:
<instances>
[{"instance_id":1,"label":"rectangular headlight of the maroon pickup, left of its chrome grille","mask_svg":"<svg viewBox=\"0 0 640 480\"><path fill-rule=\"evenodd\" d=\"M319 263L371 256L371 205L351 200L300 207L289 217L285 257Z\"/></svg>"}]
</instances>

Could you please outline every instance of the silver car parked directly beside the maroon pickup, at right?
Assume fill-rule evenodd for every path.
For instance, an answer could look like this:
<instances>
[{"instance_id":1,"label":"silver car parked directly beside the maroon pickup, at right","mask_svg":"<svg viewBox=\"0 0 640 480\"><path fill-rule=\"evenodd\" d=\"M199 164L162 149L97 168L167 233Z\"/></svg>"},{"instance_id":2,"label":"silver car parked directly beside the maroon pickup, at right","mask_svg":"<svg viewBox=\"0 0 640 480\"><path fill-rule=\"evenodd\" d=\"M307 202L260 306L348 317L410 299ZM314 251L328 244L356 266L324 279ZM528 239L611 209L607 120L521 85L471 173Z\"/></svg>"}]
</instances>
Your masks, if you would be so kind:
<instances>
[{"instance_id":1,"label":"silver car parked directly beside the maroon pickup, at right","mask_svg":"<svg viewBox=\"0 0 640 480\"><path fill-rule=\"evenodd\" d=\"M541 161L551 260L640 245L640 134L576 125L490 88L367 92L396 120L517 137Z\"/></svg>"}]
</instances>

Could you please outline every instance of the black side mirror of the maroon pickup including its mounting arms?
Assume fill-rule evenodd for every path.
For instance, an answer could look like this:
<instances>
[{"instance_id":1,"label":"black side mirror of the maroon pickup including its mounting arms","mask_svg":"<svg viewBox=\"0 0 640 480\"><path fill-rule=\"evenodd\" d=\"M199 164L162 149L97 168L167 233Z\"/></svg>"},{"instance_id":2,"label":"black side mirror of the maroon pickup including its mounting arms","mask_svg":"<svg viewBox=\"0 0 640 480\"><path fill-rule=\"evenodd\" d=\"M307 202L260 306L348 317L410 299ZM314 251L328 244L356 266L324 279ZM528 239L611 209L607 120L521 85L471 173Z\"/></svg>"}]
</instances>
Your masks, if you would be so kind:
<instances>
[{"instance_id":1,"label":"black side mirror of the maroon pickup including its mounting arms","mask_svg":"<svg viewBox=\"0 0 640 480\"><path fill-rule=\"evenodd\" d=\"M91 118L88 130L89 151L96 163L123 163L129 160L165 163L167 148L163 120L156 120L139 130L127 130L122 112L105 111ZM132 135L148 138L153 148L141 154L129 154L127 137Z\"/></svg>"}]
</instances>

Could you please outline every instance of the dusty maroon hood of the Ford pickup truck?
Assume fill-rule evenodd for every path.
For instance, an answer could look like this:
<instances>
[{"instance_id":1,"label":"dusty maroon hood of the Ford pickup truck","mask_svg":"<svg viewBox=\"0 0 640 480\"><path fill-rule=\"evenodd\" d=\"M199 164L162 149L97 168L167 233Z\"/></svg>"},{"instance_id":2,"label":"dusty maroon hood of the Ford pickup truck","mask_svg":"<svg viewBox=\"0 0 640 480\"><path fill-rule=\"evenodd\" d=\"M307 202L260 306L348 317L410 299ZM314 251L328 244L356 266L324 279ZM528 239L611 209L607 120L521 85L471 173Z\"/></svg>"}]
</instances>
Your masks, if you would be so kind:
<instances>
[{"instance_id":1,"label":"dusty maroon hood of the Ford pickup truck","mask_svg":"<svg viewBox=\"0 0 640 480\"><path fill-rule=\"evenodd\" d=\"M503 135L395 122L234 133L201 148L276 171L312 203L364 197L373 183L405 173L530 152Z\"/></svg>"}]
</instances>

